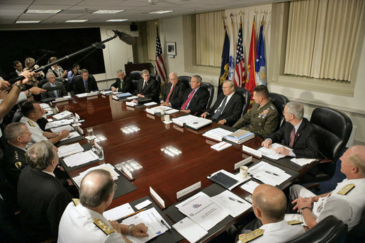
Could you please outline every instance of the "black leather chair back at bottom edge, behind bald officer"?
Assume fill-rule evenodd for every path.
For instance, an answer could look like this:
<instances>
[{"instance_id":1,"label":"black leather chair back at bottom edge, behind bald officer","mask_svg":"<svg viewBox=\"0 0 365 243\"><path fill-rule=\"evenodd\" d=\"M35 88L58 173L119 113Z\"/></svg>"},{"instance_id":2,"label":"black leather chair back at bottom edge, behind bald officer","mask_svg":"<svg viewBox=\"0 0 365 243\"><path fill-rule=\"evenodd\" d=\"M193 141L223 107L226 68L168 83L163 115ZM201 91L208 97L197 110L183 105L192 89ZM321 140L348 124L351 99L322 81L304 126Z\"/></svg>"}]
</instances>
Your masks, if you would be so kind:
<instances>
[{"instance_id":1,"label":"black leather chair back at bottom edge, behind bald officer","mask_svg":"<svg viewBox=\"0 0 365 243\"><path fill-rule=\"evenodd\" d=\"M347 225L335 216L325 217L312 229L287 243L345 243Z\"/></svg>"}]
</instances>

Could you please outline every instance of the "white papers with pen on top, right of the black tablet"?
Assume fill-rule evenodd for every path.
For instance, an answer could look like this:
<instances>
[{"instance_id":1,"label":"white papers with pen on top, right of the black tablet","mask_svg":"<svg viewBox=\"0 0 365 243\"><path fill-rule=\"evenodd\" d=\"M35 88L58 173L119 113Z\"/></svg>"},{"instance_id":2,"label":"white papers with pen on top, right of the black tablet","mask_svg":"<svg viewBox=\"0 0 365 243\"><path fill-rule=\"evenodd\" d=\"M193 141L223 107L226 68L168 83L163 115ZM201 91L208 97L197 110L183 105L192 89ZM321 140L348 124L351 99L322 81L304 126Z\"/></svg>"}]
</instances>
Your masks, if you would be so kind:
<instances>
[{"instance_id":1,"label":"white papers with pen on top, right of the black tablet","mask_svg":"<svg viewBox=\"0 0 365 243\"><path fill-rule=\"evenodd\" d=\"M282 169L263 161L250 167L248 173L254 176L254 179L271 186L279 186L281 183L291 178L291 175L287 174Z\"/></svg>"}]
</instances>

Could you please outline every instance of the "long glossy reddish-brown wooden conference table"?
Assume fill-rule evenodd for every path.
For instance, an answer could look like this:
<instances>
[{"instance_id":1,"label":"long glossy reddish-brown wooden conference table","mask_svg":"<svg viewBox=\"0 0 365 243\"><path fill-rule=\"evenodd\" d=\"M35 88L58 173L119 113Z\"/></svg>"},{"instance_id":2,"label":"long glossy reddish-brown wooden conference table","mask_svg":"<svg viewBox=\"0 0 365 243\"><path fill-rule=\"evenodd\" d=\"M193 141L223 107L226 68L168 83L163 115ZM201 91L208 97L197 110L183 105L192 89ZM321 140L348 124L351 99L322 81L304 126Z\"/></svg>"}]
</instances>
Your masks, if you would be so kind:
<instances>
[{"instance_id":1,"label":"long glossy reddish-brown wooden conference table","mask_svg":"<svg viewBox=\"0 0 365 243\"><path fill-rule=\"evenodd\" d=\"M151 115L145 108L129 107L125 101L116 101L112 96L90 96L85 98L72 97L72 100L54 103L59 111L71 111L77 113L80 119L84 119L81 128L86 134L86 128L93 127L94 135L101 137L98 145L103 147L105 159L100 162L81 166L67 173L72 178L79 173L99 164L116 165L134 159L142 166L131 172L134 180L132 183L137 187L123 196L114 198L109 208L115 208L124 203L130 203L139 198L150 195L150 187L164 200L168 208L179 200L176 199L176 192L201 181L201 188L212 186L213 182L207 176L215 171L225 169L235 173L234 164L250 157L250 154L242 152L242 146L232 145L220 152L211 149L211 145L217 142L203 137L206 130L218 128L220 125L212 123L199 130L192 130L186 127L179 127L173 123L165 124L159 115ZM174 113L170 116L177 117L186 113ZM125 133L121 128L135 126L139 129L135 132ZM88 143L88 140L81 140L81 145ZM255 137L244 143L245 146L256 149L261 146L262 139ZM172 146L181 153L174 154L164 152L166 147ZM261 159L252 157L252 162L259 162ZM312 164L304 166L298 171L292 170L289 166L279 166L293 171L289 181L280 185L284 189L298 177L305 173ZM232 192L237 196L251 201L251 194L240 187ZM247 213L250 213L249 210ZM224 227L221 227L213 234L203 238L208 242L216 235L223 232L240 217Z\"/></svg>"}]
</instances>

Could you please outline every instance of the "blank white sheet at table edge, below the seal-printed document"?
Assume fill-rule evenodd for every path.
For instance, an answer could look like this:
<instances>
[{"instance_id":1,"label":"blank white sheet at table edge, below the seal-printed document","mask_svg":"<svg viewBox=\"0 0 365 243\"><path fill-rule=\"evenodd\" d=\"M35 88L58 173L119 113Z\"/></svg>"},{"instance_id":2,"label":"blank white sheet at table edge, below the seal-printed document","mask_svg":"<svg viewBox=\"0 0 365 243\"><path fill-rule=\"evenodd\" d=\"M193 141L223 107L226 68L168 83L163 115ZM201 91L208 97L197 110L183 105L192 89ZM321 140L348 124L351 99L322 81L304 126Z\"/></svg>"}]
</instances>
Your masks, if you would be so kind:
<instances>
[{"instance_id":1,"label":"blank white sheet at table edge, below the seal-printed document","mask_svg":"<svg viewBox=\"0 0 365 243\"><path fill-rule=\"evenodd\" d=\"M204 230L199 225L196 225L189 217L184 217L182 220L172 225L172 227L191 243L197 242L208 234L208 231Z\"/></svg>"}]
</instances>

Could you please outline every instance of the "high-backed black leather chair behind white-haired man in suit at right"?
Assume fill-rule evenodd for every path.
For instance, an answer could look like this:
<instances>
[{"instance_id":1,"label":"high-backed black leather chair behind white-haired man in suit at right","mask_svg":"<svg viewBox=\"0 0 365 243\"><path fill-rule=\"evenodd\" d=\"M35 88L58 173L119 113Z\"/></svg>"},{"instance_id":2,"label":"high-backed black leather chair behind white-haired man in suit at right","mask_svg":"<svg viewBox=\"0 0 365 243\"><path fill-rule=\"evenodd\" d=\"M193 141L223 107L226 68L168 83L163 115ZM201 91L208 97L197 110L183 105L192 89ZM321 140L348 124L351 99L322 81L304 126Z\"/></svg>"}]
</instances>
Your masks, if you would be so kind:
<instances>
[{"instance_id":1,"label":"high-backed black leather chair behind white-haired man in suit at right","mask_svg":"<svg viewBox=\"0 0 365 243\"><path fill-rule=\"evenodd\" d=\"M325 159L305 174L303 182L327 181L335 174L336 161L349 141L352 121L342 112L319 107L313 110L310 122L317 130L319 149Z\"/></svg>"}]
</instances>

